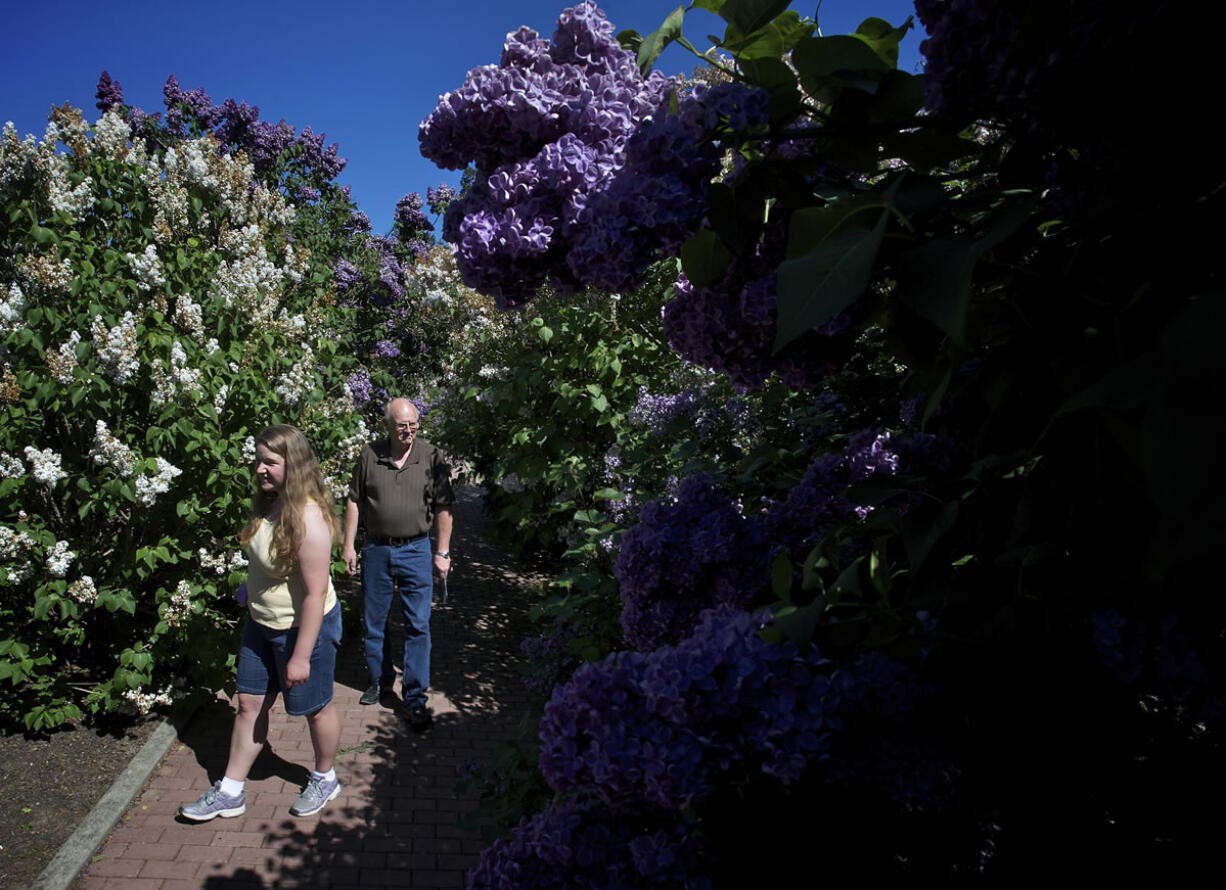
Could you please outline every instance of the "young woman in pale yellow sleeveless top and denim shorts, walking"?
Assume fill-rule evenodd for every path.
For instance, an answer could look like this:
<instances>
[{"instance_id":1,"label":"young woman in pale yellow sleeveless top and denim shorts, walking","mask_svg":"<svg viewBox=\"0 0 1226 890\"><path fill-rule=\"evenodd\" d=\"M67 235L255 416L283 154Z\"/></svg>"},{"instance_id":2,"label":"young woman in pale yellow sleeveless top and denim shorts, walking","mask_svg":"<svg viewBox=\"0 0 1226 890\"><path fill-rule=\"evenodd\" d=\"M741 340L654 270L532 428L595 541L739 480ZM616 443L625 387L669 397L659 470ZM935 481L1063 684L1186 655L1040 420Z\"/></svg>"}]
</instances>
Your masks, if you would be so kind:
<instances>
[{"instance_id":1,"label":"young woman in pale yellow sleeveless top and denim shorts, walking","mask_svg":"<svg viewBox=\"0 0 1226 890\"><path fill-rule=\"evenodd\" d=\"M246 810L243 786L264 748L278 693L287 713L305 715L315 748L315 770L289 813L319 813L341 793L333 769L341 722L332 705L341 606L330 575L340 522L315 452L295 428L268 427L256 438L255 488L251 521L240 534L249 568L238 715L226 775L179 808L194 821Z\"/></svg>"}]
</instances>

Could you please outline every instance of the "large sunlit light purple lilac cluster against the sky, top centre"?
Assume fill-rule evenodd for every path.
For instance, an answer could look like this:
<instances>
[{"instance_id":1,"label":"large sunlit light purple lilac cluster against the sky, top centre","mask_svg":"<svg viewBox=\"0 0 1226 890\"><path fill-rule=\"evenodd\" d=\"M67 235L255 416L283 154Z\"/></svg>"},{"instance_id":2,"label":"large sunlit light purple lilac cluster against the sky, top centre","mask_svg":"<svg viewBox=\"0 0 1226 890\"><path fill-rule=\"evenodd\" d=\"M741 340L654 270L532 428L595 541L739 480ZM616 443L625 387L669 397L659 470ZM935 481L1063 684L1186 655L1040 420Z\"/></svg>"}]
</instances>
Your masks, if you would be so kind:
<instances>
[{"instance_id":1,"label":"large sunlit light purple lilac cluster against the sky, top centre","mask_svg":"<svg viewBox=\"0 0 1226 890\"><path fill-rule=\"evenodd\" d=\"M672 83L644 77L593 2L563 11L553 40L508 34L500 64L473 69L422 123L422 154L472 163L443 234L465 283L500 305L544 282L620 289L674 250L705 213L715 123L764 118L765 96L695 91L668 114Z\"/></svg>"}]
</instances>

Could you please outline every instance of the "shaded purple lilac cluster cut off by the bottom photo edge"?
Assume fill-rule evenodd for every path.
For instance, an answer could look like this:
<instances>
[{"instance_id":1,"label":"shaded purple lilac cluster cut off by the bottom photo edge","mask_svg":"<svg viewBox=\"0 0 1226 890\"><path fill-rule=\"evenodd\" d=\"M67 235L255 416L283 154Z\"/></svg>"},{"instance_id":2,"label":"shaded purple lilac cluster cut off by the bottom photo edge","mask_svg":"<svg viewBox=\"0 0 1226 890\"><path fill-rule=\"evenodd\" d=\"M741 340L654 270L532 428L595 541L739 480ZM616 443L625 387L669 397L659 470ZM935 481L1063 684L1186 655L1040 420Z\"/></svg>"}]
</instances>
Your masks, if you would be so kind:
<instances>
[{"instance_id":1,"label":"shaded purple lilac cluster cut off by the bottom photo edge","mask_svg":"<svg viewBox=\"0 0 1226 890\"><path fill-rule=\"evenodd\" d=\"M673 813L568 801L526 816L482 852L471 890L709 890L693 826Z\"/></svg>"}]
</instances>

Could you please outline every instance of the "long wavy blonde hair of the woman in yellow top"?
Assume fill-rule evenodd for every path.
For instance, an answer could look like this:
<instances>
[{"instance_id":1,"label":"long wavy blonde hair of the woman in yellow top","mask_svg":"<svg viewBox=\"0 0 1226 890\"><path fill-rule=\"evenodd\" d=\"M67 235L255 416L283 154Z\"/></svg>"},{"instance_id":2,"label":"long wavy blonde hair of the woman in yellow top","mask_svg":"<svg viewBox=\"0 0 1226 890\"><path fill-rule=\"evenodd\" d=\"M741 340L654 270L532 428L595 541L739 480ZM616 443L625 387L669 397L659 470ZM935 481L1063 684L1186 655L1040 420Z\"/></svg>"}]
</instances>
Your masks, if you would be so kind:
<instances>
[{"instance_id":1,"label":"long wavy blonde hair of the woman in yellow top","mask_svg":"<svg viewBox=\"0 0 1226 890\"><path fill-rule=\"evenodd\" d=\"M256 528L260 527L260 520L271 514L278 501L281 515L272 532L272 557L278 563L289 565L294 561L294 555L305 537L303 510L311 503L319 504L332 543L336 544L341 537L341 522L336 517L332 495L327 490L324 474L319 471L319 461L306 436L297 427L278 423L261 432L255 438L255 444L264 445L286 462L286 482L280 494L264 492L256 483L255 496L251 499L251 521L239 533L243 547L251 543Z\"/></svg>"}]
</instances>

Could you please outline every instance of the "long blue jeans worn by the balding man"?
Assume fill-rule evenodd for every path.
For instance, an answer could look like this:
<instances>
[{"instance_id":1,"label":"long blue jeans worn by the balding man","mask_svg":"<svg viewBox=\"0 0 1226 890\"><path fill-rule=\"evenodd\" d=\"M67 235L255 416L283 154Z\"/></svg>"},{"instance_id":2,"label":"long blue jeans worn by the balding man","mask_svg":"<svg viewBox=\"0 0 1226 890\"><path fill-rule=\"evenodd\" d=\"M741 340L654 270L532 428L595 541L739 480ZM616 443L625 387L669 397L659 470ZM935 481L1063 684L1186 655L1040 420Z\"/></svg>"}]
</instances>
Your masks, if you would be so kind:
<instances>
[{"instance_id":1,"label":"long blue jeans worn by the balding man","mask_svg":"<svg viewBox=\"0 0 1226 890\"><path fill-rule=\"evenodd\" d=\"M392 596L400 593L405 615L405 675L401 695L409 707L425 704L430 685L430 599L434 596L429 537L398 547L374 544L362 548L362 602L367 631L367 667L370 683L387 688L396 678L387 615Z\"/></svg>"}]
</instances>

